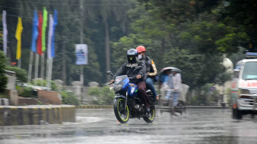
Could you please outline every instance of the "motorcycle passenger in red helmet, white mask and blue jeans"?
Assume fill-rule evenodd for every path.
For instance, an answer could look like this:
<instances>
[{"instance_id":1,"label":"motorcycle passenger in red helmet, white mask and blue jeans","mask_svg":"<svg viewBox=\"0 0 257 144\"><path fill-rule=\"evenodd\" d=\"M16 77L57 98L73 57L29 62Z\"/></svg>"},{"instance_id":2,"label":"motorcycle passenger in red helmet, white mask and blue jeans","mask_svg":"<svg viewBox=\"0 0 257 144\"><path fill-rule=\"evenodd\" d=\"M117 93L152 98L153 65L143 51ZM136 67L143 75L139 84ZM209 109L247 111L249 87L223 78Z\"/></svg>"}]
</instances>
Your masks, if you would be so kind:
<instances>
[{"instance_id":1,"label":"motorcycle passenger in red helmet, white mask and blue jeans","mask_svg":"<svg viewBox=\"0 0 257 144\"><path fill-rule=\"evenodd\" d=\"M145 55L146 49L144 46L138 46L136 48L137 52L138 52L138 59L142 60L145 65L146 65L146 70L148 73L147 79L146 79L146 86L149 88L149 90L152 91L152 96L155 98L154 103L158 103L158 96L157 96L157 92L154 88L154 81L155 81L155 76L157 76L157 69L156 66L153 62L152 59L150 59L148 56ZM157 99L156 99L157 98Z\"/></svg>"}]
</instances>

